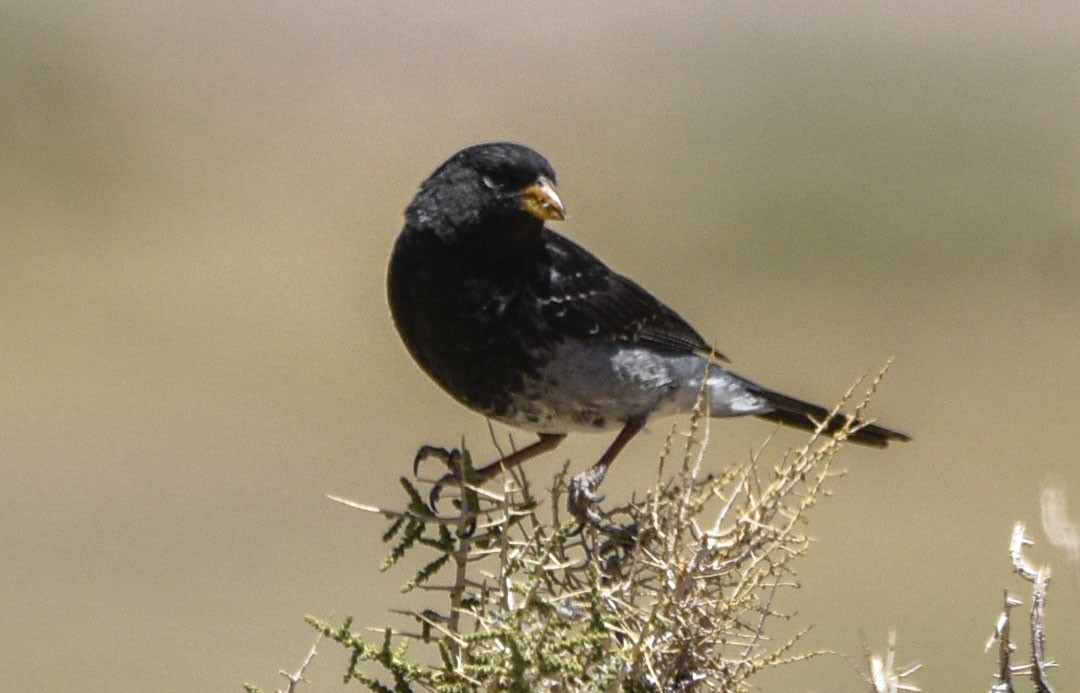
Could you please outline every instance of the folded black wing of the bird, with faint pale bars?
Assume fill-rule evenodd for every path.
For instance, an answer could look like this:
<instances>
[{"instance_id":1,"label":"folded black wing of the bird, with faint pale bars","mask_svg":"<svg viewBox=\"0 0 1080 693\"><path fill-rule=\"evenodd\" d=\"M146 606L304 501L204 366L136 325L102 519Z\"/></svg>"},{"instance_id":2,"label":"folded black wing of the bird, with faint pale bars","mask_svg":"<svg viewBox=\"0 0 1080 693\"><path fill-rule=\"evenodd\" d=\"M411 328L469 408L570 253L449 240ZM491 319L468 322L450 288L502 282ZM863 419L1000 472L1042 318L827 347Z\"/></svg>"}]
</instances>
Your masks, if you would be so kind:
<instances>
[{"instance_id":1,"label":"folded black wing of the bird, with faint pale bars","mask_svg":"<svg viewBox=\"0 0 1080 693\"><path fill-rule=\"evenodd\" d=\"M544 229L544 253L531 287L543 327L581 339L712 351L678 313L569 239Z\"/></svg>"}]
</instances>

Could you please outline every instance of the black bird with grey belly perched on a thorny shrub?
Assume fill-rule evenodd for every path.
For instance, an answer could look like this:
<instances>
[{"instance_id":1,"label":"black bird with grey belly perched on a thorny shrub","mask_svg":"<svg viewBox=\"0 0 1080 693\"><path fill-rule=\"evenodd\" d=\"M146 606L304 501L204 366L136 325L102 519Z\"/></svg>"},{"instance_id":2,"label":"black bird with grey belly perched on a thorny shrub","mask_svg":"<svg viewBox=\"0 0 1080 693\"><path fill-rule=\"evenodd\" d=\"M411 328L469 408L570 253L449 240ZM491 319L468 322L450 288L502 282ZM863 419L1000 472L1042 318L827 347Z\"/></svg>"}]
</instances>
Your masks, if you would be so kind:
<instances>
[{"instance_id":1,"label":"black bird with grey belly perched on a thorny shrub","mask_svg":"<svg viewBox=\"0 0 1080 693\"><path fill-rule=\"evenodd\" d=\"M548 226L565 218L543 155L473 145L423 180L390 254L391 316L420 368L465 407L538 436L477 468L481 483L570 433L617 431L571 483L570 512L594 520L596 487L626 444L649 420L690 411L699 393L711 417L811 431L827 421L827 433L848 425L848 439L877 448L910 439L731 371L678 313ZM434 450L422 447L415 465Z\"/></svg>"}]
</instances>

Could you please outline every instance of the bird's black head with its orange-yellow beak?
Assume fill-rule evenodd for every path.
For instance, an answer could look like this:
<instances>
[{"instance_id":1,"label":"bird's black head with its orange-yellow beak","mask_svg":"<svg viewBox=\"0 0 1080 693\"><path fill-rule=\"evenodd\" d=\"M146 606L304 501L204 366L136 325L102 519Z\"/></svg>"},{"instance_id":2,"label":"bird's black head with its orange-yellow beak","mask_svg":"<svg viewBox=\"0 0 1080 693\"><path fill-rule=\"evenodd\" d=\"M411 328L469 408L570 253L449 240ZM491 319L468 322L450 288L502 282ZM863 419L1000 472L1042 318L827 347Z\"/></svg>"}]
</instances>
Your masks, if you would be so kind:
<instances>
[{"instance_id":1,"label":"bird's black head with its orange-yellow beak","mask_svg":"<svg viewBox=\"0 0 1080 693\"><path fill-rule=\"evenodd\" d=\"M555 171L539 153L514 142L467 147L420 186L405 210L408 225L462 232L487 223L542 226L565 217Z\"/></svg>"}]
</instances>

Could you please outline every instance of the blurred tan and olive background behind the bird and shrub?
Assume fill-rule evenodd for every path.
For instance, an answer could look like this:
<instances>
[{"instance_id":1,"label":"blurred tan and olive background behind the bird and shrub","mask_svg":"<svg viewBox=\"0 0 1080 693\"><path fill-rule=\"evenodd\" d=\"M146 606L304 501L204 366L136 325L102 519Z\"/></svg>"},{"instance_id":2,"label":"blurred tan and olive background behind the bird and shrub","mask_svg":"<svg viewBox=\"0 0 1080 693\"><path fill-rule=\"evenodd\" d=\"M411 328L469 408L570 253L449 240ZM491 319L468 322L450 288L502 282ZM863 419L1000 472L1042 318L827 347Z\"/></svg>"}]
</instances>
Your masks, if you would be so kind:
<instances>
[{"instance_id":1,"label":"blurred tan and olive background behind the bird and shrub","mask_svg":"<svg viewBox=\"0 0 1080 693\"><path fill-rule=\"evenodd\" d=\"M1003 589L1026 627L1015 520L1077 690L1077 574L1038 503L1051 480L1080 518L1077 46L1074 2L3 3L5 688L272 689L307 613L408 625L382 520L323 494L396 503L423 443L494 458L383 280L420 180L509 138L558 172L558 229L738 371L831 404L896 357L872 413L915 441L845 450L781 604L814 625L797 651L847 658L762 690L862 690L893 627L924 690L986 690ZM710 459L772 431L716 423ZM309 688L345 668L324 646Z\"/></svg>"}]
</instances>

